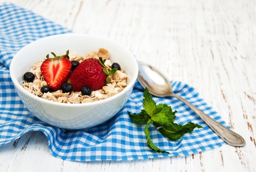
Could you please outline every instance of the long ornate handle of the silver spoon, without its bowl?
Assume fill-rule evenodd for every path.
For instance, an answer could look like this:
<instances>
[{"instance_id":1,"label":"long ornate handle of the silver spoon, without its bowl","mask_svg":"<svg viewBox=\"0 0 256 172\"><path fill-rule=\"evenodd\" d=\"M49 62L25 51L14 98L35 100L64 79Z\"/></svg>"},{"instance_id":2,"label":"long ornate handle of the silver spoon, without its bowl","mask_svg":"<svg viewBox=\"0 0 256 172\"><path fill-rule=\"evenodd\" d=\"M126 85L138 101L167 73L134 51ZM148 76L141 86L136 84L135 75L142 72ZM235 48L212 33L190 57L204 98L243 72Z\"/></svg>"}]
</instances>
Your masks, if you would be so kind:
<instances>
[{"instance_id":1,"label":"long ornate handle of the silver spoon, without its bowl","mask_svg":"<svg viewBox=\"0 0 256 172\"><path fill-rule=\"evenodd\" d=\"M186 99L182 98L181 96L178 96L177 94L171 94L170 96L180 99L182 102L184 102L186 105L188 105L206 124L208 124L213 131L216 132L220 138L229 144L230 146L245 146L245 139L243 139L242 136L235 133L234 131L231 131L229 128L223 126L216 120L213 120L211 117L200 111L197 107L192 105L190 102L188 102Z\"/></svg>"}]
</instances>

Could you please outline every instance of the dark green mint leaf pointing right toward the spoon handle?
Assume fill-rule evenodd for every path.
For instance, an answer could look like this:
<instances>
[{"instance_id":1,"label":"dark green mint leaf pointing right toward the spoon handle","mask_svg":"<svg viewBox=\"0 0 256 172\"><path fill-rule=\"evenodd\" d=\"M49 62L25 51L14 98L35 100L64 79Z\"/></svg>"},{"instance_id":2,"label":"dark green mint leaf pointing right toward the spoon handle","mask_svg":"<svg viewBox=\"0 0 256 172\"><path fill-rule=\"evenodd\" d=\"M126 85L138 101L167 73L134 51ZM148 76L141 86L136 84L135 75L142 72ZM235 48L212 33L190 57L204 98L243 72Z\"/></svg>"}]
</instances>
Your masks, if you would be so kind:
<instances>
[{"instance_id":1,"label":"dark green mint leaf pointing right toward the spoon handle","mask_svg":"<svg viewBox=\"0 0 256 172\"><path fill-rule=\"evenodd\" d=\"M158 129L158 131L164 135L165 137L168 137L171 140L179 139L183 136L185 133L191 133L191 131L194 130L194 128L202 128L202 126L189 122L185 125L172 123L171 125L164 126Z\"/></svg>"}]
</instances>

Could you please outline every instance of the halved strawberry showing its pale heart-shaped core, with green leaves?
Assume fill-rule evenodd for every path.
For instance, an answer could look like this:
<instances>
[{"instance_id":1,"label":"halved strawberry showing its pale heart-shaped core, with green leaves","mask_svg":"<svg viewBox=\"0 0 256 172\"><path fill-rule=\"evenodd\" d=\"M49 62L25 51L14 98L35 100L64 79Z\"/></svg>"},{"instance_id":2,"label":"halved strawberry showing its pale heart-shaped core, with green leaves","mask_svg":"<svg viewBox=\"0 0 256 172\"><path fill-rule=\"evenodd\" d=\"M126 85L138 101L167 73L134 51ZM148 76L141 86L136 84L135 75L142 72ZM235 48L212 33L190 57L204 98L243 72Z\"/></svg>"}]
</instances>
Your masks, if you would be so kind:
<instances>
[{"instance_id":1,"label":"halved strawberry showing its pale heart-shaped core, with green leaves","mask_svg":"<svg viewBox=\"0 0 256 172\"><path fill-rule=\"evenodd\" d=\"M65 83L70 76L72 64L68 59L68 50L65 55L56 56L53 52L54 58L49 58L49 54L46 56L46 60L43 61L40 69L41 72L53 91L61 89L63 83Z\"/></svg>"}]
</instances>

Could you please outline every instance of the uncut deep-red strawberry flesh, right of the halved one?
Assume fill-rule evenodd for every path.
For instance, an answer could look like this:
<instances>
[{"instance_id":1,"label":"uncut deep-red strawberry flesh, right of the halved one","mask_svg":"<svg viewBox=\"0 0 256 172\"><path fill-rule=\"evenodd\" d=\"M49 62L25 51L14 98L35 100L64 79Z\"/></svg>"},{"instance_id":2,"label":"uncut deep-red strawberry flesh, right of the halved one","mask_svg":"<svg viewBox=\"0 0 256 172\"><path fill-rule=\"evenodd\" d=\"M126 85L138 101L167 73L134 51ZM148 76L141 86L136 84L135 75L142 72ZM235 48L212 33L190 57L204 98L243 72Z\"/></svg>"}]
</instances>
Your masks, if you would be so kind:
<instances>
[{"instance_id":1,"label":"uncut deep-red strawberry flesh, right of the halved one","mask_svg":"<svg viewBox=\"0 0 256 172\"><path fill-rule=\"evenodd\" d=\"M92 91L101 89L106 83L107 74L97 59L85 59L72 72L68 82L74 91L81 91L83 87L90 87Z\"/></svg>"}]
</instances>

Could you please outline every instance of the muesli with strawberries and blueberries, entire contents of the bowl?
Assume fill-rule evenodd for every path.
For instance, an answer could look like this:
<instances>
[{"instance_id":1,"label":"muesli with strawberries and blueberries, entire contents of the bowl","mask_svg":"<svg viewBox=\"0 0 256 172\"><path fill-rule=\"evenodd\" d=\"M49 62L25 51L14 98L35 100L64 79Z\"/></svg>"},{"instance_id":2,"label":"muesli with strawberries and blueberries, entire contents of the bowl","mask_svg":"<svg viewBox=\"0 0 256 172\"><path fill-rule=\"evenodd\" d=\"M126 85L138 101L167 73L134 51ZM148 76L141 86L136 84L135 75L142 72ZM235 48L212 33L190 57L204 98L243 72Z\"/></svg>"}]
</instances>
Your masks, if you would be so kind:
<instances>
[{"instance_id":1,"label":"muesli with strawberries and blueberries, entire contents of the bowl","mask_svg":"<svg viewBox=\"0 0 256 172\"><path fill-rule=\"evenodd\" d=\"M127 75L100 48L86 56L76 52L39 61L23 76L22 86L38 97L62 103L86 103L118 94L127 85Z\"/></svg>"}]
</instances>

